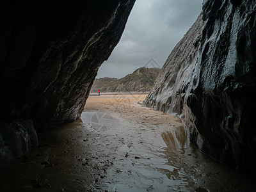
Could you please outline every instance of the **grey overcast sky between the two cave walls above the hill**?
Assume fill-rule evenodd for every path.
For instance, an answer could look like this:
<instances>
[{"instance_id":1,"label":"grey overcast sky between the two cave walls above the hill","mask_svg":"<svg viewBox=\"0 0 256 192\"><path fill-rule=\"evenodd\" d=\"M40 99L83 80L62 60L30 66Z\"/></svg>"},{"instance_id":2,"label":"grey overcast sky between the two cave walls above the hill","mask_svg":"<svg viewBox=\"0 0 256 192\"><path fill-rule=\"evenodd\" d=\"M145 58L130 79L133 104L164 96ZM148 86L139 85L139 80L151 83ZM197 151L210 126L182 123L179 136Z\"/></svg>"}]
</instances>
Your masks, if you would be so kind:
<instances>
[{"instance_id":1,"label":"grey overcast sky between the two cave walls above the hill","mask_svg":"<svg viewBox=\"0 0 256 192\"><path fill-rule=\"evenodd\" d=\"M162 67L201 10L202 0L136 0L122 38L97 78L124 77L151 59Z\"/></svg>"}]
</instances>

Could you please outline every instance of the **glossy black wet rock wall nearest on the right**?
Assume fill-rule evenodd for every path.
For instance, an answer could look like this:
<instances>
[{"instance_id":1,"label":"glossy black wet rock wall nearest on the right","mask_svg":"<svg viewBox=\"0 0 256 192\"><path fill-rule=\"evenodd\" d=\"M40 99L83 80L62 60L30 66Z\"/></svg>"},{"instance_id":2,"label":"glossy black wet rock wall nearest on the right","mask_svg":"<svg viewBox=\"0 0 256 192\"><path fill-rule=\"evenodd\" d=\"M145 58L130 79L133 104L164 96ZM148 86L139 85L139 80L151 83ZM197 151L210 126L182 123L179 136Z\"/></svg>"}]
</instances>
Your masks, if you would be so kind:
<instances>
[{"instance_id":1,"label":"glossy black wet rock wall nearest on the right","mask_svg":"<svg viewBox=\"0 0 256 192\"><path fill-rule=\"evenodd\" d=\"M255 174L256 2L233 2L204 3L200 83L188 106L196 116L202 150Z\"/></svg>"}]
</instances>

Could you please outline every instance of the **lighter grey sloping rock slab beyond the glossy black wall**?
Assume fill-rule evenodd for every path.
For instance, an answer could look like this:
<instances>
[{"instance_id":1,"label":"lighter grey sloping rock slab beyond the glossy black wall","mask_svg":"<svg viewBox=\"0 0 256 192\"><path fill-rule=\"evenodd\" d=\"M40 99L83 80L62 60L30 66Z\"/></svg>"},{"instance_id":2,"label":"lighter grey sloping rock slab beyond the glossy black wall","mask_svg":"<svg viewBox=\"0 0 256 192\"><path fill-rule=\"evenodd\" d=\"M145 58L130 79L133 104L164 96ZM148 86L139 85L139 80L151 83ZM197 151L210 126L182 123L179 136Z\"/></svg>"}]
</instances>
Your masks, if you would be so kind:
<instances>
[{"instance_id":1,"label":"lighter grey sloping rock slab beyond the glossy black wall","mask_svg":"<svg viewBox=\"0 0 256 192\"><path fill-rule=\"evenodd\" d=\"M166 113L182 113L184 93L190 83L189 73L198 56L202 36L202 14L174 47L164 63L145 104Z\"/></svg>"}]
</instances>

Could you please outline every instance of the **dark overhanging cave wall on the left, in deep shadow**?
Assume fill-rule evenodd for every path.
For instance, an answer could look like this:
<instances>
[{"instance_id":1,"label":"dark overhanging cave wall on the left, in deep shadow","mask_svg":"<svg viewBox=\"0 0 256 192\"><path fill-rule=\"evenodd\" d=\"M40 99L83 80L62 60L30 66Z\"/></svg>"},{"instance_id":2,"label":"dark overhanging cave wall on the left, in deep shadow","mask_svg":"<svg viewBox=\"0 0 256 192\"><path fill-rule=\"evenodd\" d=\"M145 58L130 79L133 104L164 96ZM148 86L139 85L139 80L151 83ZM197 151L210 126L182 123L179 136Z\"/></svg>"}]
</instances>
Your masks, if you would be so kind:
<instances>
[{"instance_id":1,"label":"dark overhanging cave wall on the left, in deep shadow","mask_svg":"<svg viewBox=\"0 0 256 192\"><path fill-rule=\"evenodd\" d=\"M0 0L1 160L29 150L33 122L38 129L79 120L134 1Z\"/></svg>"}]
</instances>

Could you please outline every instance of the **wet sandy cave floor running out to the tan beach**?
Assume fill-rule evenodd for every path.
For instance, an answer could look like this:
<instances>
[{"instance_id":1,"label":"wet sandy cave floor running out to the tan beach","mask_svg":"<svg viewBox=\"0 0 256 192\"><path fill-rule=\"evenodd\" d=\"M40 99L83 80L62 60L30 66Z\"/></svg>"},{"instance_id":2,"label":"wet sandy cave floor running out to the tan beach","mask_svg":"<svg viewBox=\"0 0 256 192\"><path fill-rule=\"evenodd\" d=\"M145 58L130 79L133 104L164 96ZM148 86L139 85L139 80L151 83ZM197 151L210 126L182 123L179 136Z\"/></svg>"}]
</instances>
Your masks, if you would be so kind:
<instances>
[{"instance_id":1,"label":"wet sandy cave floor running out to the tan beach","mask_svg":"<svg viewBox=\"0 0 256 192\"><path fill-rule=\"evenodd\" d=\"M246 175L189 145L177 116L146 95L90 96L83 123L38 133L40 147L0 170L0 191L254 191Z\"/></svg>"}]
</instances>

